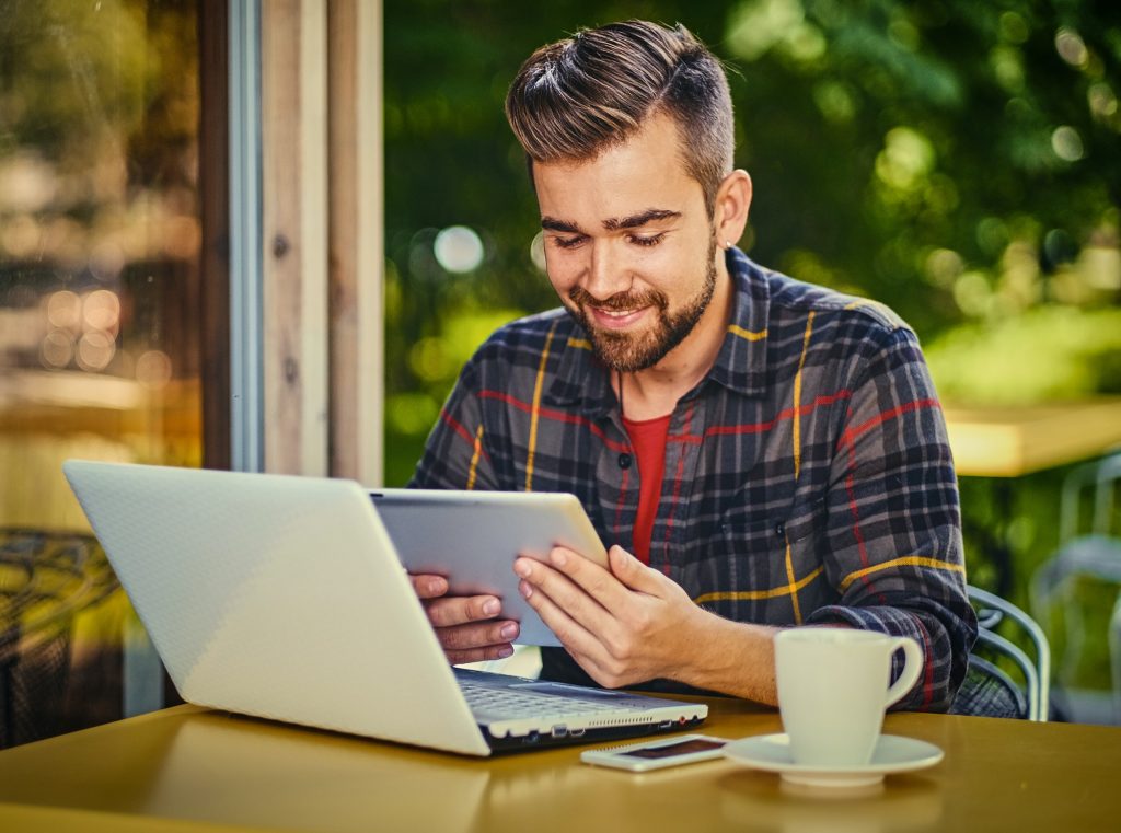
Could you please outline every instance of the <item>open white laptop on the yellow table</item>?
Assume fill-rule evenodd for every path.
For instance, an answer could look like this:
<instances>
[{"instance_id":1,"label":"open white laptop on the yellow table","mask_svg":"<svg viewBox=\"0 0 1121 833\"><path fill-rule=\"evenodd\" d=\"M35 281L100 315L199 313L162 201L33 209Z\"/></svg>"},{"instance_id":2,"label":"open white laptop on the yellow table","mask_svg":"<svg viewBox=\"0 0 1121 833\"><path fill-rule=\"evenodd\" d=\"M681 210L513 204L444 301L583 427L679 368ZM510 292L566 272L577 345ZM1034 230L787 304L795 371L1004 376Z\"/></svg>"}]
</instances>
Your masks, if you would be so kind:
<instances>
[{"instance_id":1,"label":"open white laptop on the yellow table","mask_svg":"<svg viewBox=\"0 0 1121 833\"><path fill-rule=\"evenodd\" d=\"M707 716L701 703L453 668L354 481L63 470L188 703L473 756Z\"/></svg>"}]
</instances>

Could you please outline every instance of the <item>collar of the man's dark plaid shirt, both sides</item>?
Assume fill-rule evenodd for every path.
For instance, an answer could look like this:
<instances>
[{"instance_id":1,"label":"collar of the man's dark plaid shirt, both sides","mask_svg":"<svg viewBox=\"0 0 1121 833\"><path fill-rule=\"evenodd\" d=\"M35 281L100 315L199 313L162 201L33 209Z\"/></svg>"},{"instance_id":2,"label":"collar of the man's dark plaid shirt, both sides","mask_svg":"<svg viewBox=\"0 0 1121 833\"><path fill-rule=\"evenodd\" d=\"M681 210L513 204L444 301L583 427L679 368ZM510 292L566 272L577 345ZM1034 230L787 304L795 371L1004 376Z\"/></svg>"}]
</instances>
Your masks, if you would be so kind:
<instances>
[{"instance_id":1,"label":"collar of the man's dark plaid shirt, both sides","mask_svg":"<svg viewBox=\"0 0 1121 833\"><path fill-rule=\"evenodd\" d=\"M768 274L735 247L724 253L734 285L732 316L716 361L705 377L745 396L762 396L767 378L767 321L770 316ZM617 407L611 378L595 354L584 328L569 317L558 326L553 342L560 353L544 401L555 406L581 404L589 417ZM704 382L702 382L704 385ZM697 386L700 389L701 386Z\"/></svg>"}]
</instances>

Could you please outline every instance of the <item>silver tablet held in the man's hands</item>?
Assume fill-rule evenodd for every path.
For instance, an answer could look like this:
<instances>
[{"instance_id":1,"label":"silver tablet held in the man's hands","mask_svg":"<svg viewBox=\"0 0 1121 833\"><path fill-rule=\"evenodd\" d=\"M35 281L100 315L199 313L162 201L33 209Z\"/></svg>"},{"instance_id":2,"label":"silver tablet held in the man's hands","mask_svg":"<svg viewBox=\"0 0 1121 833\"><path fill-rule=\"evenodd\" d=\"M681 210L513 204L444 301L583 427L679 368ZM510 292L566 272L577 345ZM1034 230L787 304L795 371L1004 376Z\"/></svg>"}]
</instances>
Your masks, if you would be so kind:
<instances>
[{"instance_id":1,"label":"silver tablet held in the man's hands","mask_svg":"<svg viewBox=\"0 0 1121 833\"><path fill-rule=\"evenodd\" d=\"M608 564L584 507L567 492L379 489L370 497L406 570L446 577L450 595L498 596L499 617L521 626L520 644L560 645L518 592L515 558L545 561L565 546Z\"/></svg>"}]
</instances>

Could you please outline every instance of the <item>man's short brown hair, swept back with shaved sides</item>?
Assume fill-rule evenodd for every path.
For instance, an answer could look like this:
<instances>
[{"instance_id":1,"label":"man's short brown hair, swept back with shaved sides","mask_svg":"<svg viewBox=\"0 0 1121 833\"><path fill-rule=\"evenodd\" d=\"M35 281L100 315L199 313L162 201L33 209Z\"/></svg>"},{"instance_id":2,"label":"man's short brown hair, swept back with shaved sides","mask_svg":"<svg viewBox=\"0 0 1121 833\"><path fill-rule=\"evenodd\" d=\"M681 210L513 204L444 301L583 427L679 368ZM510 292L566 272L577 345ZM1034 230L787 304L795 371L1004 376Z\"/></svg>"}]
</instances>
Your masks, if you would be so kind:
<instances>
[{"instance_id":1,"label":"man's short brown hair, swept back with shaved sides","mask_svg":"<svg viewBox=\"0 0 1121 833\"><path fill-rule=\"evenodd\" d=\"M532 164L594 158L666 112L710 216L732 170L732 96L720 61L678 24L627 20L537 49L510 85L506 114Z\"/></svg>"}]
</instances>

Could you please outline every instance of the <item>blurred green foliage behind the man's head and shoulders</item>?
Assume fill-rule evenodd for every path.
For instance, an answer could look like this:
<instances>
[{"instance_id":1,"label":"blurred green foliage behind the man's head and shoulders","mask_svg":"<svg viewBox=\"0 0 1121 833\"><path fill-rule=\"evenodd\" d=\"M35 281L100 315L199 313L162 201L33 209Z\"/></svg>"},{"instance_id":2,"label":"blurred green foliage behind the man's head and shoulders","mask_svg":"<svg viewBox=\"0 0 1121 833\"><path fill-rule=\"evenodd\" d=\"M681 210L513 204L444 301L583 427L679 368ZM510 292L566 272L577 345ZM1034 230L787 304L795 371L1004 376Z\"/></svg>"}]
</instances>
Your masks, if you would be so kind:
<instances>
[{"instance_id":1,"label":"blurred green foliage behind the man's head and shoulders","mask_svg":"<svg viewBox=\"0 0 1121 833\"><path fill-rule=\"evenodd\" d=\"M1036 401L1118 389L1114 3L527 8L385 3L387 254L389 291L400 300L387 335L391 391L443 398L446 387L417 372L416 344L444 339L465 305L556 304L530 257L537 209L502 100L537 46L629 17L680 20L728 62L738 164L756 185L742 241L752 257L896 308L929 345L948 398ZM432 257L432 241L460 223L482 235L487 258L453 276ZM1017 363L1025 350L1032 362ZM390 436L414 451L423 439Z\"/></svg>"}]
</instances>

